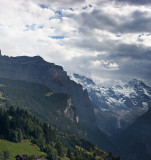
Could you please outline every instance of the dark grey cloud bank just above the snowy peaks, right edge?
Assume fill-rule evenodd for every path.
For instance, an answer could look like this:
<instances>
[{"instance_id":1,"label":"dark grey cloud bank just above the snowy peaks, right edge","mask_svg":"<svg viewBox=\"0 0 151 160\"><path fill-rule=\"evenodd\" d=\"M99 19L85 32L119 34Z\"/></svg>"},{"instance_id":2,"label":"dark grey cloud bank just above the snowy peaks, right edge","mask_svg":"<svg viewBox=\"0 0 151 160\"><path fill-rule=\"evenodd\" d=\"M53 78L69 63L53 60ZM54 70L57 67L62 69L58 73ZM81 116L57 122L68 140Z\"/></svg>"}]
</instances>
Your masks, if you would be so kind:
<instances>
[{"instance_id":1,"label":"dark grey cloud bank just above the snowy peaks, right edge","mask_svg":"<svg viewBox=\"0 0 151 160\"><path fill-rule=\"evenodd\" d=\"M109 78L130 80L139 78L147 80L151 85L151 48L137 45L120 44L113 51L108 51L107 55L99 55L97 59L112 60L119 65L119 70L102 72L97 69L98 75Z\"/></svg>"}]
</instances>

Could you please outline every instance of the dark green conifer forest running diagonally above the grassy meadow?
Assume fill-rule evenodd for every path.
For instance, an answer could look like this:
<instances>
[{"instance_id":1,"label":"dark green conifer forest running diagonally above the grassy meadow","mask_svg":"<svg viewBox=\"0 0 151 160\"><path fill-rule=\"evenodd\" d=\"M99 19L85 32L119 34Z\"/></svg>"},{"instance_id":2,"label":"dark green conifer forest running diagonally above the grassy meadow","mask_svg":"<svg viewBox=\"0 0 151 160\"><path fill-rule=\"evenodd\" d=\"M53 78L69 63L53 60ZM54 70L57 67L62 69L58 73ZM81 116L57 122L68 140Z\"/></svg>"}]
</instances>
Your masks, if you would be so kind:
<instances>
[{"instance_id":1,"label":"dark green conifer forest running diagonally above the grassy meadow","mask_svg":"<svg viewBox=\"0 0 151 160\"><path fill-rule=\"evenodd\" d=\"M48 123L39 120L22 109L10 107L0 110L0 139L20 143L29 139L47 153L47 159L60 160L119 160L101 151L97 146L75 135L56 132Z\"/></svg>"}]
</instances>

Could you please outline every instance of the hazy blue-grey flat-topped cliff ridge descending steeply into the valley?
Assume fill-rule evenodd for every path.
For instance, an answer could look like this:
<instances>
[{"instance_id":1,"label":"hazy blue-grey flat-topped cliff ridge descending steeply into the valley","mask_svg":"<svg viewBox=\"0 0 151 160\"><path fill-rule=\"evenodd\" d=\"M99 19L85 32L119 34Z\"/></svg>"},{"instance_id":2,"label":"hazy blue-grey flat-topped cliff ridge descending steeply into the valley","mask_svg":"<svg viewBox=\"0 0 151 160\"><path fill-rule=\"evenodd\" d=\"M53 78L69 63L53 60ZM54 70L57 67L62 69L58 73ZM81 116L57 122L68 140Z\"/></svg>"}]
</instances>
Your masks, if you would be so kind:
<instances>
[{"instance_id":1,"label":"hazy blue-grey flat-topped cliff ridge descending steeply into the valley","mask_svg":"<svg viewBox=\"0 0 151 160\"><path fill-rule=\"evenodd\" d=\"M79 123L87 131L87 138L101 148L114 149L97 127L94 110L86 90L70 80L62 67L44 61L41 57L0 56L0 77L44 84L55 93L71 96L79 117Z\"/></svg>"}]
</instances>

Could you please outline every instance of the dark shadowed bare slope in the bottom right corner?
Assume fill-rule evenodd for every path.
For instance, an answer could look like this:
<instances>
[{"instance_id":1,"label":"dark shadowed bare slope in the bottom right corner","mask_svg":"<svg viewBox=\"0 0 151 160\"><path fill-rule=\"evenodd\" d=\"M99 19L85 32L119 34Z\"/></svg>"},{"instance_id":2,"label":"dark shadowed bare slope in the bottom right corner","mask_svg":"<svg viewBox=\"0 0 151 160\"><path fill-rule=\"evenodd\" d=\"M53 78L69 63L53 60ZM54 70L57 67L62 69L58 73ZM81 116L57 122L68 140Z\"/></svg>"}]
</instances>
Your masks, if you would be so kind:
<instances>
[{"instance_id":1,"label":"dark shadowed bare slope in the bottom right corner","mask_svg":"<svg viewBox=\"0 0 151 160\"><path fill-rule=\"evenodd\" d=\"M121 148L123 158L127 160L150 160L151 110L112 138Z\"/></svg>"}]
</instances>

